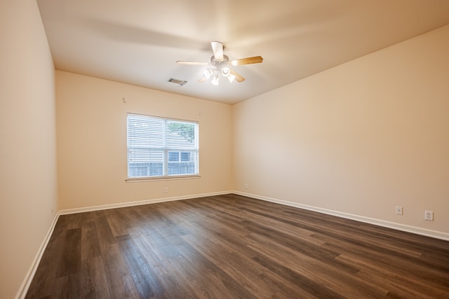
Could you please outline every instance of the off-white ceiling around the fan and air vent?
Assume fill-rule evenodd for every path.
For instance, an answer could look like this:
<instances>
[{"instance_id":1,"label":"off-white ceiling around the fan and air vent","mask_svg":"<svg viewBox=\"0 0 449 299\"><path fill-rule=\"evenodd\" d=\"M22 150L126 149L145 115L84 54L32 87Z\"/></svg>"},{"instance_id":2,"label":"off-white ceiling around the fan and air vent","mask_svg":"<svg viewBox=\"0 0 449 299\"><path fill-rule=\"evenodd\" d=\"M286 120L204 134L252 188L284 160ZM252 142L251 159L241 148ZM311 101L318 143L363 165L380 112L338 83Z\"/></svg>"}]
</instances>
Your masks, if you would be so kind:
<instances>
[{"instance_id":1,"label":"off-white ceiling around the fan and air vent","mask_svg":"<svg viewBox=\"0 0 449 299\"><path fill-rule=\"evenodd\" d=\"M449 24L448 0L37 0L55 68L236 103ZM210 41L243 83L198 83ZM184 86L169 78L188 81Z\"/></svg>"}]
</instances>

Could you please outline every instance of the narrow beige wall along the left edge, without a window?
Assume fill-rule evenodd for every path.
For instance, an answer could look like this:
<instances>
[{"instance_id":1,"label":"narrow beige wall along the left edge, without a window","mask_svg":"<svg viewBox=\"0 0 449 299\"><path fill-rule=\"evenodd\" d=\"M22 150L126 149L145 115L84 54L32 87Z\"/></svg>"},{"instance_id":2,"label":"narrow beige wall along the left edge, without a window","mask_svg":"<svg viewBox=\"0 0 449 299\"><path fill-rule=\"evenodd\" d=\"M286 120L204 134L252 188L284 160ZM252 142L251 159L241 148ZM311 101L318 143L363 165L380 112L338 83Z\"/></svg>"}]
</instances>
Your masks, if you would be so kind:
<instances>
[{"instance_id":1,"label":"narrow beige wall along the left edge, without a window","mask_svg":"<svg viewBox=\"0 0 449 299\"><path fill-rule=\"evenodd\" d=\"M1 1L0 44L0 298L13 298L57 208L54 68L36 1Z\"/></svg>"}]
</instances>

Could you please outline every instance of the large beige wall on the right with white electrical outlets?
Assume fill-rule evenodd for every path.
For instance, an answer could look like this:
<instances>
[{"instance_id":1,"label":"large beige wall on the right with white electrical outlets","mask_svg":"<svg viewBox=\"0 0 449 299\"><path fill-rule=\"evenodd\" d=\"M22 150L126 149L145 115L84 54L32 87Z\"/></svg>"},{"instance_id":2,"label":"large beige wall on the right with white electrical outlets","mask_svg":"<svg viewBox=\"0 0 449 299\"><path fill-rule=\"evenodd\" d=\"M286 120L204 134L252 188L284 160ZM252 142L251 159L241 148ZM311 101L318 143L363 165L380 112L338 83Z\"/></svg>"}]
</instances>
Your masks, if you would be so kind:
<instances>
[{"instance_id":1,"label":"large beige wall on the right with white electrical outlets","mask_svg":"<svg viewBox=\"0 0 449 299\"><path fill-rule=\"evenodd\" d=\"M449 236L448 53L446 26L236 104L235 190Z\"/></svg>"}]
</instances>

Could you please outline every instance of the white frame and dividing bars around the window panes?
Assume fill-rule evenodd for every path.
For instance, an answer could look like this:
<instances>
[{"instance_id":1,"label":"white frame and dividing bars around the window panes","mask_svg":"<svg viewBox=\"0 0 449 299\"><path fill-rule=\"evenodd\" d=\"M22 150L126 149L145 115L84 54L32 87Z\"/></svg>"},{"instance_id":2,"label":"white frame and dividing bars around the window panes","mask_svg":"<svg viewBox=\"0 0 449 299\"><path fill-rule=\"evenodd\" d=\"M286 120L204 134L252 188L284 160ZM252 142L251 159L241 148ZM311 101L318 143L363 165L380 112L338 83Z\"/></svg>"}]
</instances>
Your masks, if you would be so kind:
<instances>
[{"instance_id":1,"label":"white frame and dividing bars around the window panes","mask_svg":"<svg viewBox=\"0 0 449 299\"><path fill-rule=\"evenodd\" d=\"M130 126L128 123L129 117L136 116L138 118L149 118L154 120L162 120L163 121L163 129L161 135L163 136L163 140L161 144L158 146L146 146L142 147L143 149L147 149L148 151L159 151L162 153L162 174L161 175L145 175L145 176L131 176L130 174L130 163L132 162L131 153L133 151L136 151L137 146L130 146ZM192 145L189 145L187 147L183 147L182 143L184 141L180 141L179 144L176 144L175 146L168 146L167 141L170 137L167 137L168 135L168 129L167 124L173 122L180 122L180 123L187 123L194 125L194 140ZM181 138L180 138L181 139ZM173 139L171 139L173 140ZM186 139L187 140L187 139ZM126 149L127 149L127 179L126 181L142 181L142 180L157 180L157 179L185 179L185 178L192 178L192 177L199 177L199 123L193 120L182 120L182 119L175 119L175 118L163 118L159 116L148 116L143 114L136 114L136 113L127 113L126 114ZM172 163L169 161L168 153L169 152L178 152L179 153L179 161L173 162L173 163L182 163L181 161L181 155L182 153L188 152L190 155L190 161L194 163L194 172L188 173L188 174L169 174L169 163ZM192 156L196 157L192 161ZM142 162L142 164L150 163L148 162ZM192 167L192 166L191 166ZM150 170L149 170L150 171Z\"/></svg>"}]
</instances>

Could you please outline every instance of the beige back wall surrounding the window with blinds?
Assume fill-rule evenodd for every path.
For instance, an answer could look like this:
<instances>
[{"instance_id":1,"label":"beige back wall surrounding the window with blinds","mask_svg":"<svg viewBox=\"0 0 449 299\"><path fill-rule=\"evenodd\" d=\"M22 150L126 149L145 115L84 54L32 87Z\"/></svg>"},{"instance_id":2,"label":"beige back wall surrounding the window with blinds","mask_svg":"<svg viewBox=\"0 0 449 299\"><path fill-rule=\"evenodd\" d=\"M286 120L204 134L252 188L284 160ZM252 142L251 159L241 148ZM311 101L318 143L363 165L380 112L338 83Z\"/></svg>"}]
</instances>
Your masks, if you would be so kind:
<instances>
[{"instance_id":1,"label":"beige back wall surrounding the window with blinds","mask_svg":"<svg viewBox=\"0 0 449 299\"><path fill-rule=\"evenodd\" d=\"M60 209L232 190L232 106L64 71L56 98ZM199 121L201 178L126 183L128 112Z\"/></svg>"}]
</instances>

